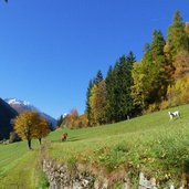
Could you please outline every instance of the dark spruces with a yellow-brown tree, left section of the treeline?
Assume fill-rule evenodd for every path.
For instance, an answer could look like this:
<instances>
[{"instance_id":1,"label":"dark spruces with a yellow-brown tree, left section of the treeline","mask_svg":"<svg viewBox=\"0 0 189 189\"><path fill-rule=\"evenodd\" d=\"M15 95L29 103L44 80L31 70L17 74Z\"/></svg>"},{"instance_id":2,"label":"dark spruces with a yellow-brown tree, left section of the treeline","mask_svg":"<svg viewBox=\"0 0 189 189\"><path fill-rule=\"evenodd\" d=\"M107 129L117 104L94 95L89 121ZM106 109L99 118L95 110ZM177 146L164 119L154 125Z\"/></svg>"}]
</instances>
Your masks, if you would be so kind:
<instances>
[{"instance_id":1,"label":"dark spruces with a yellow-brown tree, left section of the treeline","mask_svg":"<svg viewBox=\"0 0 189 189\"><path fill-rule=\"evenodd\" d=\"M123 55L115 66L109 66L106 78L98 71L90 81L86 95L86 116L88 125L103 125L126 119L136 107L132 97L132 70L135 56L130 52Z\"/></svg>"}]
</instances>

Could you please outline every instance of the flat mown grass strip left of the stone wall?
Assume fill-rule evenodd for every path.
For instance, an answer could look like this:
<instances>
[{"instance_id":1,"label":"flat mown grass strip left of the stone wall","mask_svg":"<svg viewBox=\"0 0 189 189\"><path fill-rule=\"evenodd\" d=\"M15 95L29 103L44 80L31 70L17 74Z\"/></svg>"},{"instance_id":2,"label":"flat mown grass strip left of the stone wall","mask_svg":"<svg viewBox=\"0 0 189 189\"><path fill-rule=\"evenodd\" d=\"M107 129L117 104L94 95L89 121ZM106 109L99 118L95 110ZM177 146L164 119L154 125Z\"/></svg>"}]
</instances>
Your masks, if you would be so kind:
<instances>
[{"instance_id":1,"label":"flat mown grass strip left of the stone wall","mask_svg":"<svg viewBox=\"0 0 189 189\"><path fill-rule=\"evenodd\" d=\"M35 188L39 145L33 141L32 146L34 150L29 150L25 141L0 145L0 189Z\"/></svg>"}]
</instances>

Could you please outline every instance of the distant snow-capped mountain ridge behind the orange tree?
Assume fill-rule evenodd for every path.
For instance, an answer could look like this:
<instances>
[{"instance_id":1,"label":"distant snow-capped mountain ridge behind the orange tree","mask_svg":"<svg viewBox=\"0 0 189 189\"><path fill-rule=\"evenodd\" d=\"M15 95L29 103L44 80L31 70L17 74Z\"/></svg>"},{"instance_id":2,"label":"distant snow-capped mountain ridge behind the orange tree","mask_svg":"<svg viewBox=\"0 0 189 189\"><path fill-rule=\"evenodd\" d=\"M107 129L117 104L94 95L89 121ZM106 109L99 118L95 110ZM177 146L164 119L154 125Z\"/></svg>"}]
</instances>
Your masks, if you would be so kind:
<instances>
[{"instance_id":1,"label":"distant snow-capped mountain ridge behind the orange tree","mask_svg":"<svg viewBox=\"0 0 189 189\"><path fill-rule=\"evenodd\" d=\"M45 118L51 125L52 129L56 126L56 119L51 117L50 115L39 111L35 106L31 105L27 101L21 101L18 98L6 98L4 99L13 109L15 109L19 114L25 111L36 111L43 118Z\"/></svg>"}]
</instances>

